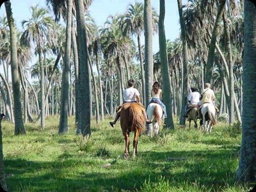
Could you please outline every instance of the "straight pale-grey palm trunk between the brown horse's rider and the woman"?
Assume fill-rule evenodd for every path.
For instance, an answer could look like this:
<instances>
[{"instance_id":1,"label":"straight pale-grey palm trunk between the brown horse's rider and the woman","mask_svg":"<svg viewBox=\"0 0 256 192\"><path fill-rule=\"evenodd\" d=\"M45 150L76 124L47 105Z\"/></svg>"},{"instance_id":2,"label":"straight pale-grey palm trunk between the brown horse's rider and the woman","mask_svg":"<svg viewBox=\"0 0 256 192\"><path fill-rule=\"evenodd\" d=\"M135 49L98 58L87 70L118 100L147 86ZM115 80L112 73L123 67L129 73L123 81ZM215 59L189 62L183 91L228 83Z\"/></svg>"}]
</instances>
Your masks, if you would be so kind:
<instances>
[{"instance_id":1,"label":"straight pale-grey palm trunk between the brown horse's rider and the woman","mask_svg":"<svg viewBox=\"0 0 256 192\"><path fill-rule=\"evenodd\" d=\"M151 99L153 84L153 51L152 51L152 6L151 0L144 0L144 30L145 30L145 104Z\"/></svg>"}]
</instances>

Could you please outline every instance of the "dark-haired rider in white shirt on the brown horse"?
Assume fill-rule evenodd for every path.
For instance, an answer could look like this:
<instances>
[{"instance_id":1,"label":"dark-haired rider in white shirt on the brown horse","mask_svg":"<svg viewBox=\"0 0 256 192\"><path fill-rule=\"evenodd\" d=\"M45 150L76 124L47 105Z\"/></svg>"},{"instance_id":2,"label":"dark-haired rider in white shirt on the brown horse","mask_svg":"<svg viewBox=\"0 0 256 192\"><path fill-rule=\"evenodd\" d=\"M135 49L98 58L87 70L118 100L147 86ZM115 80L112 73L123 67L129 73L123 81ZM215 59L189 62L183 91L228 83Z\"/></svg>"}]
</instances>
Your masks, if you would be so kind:
<instances>
[{"instance_id":1,"label":"dark-haired rider in white shirt on the brown horse","mask_svg":"<svg viewBox=\"0 0 256 192\"><path fill-rule=\"evenodd\" d=\"M123 104L129 103L129 102L136 102L136 103L138 102L138 104L140 104L144 108L144 106L140 103L140 93L138 92L138 90L136 88L134 88L135 83L136 82L133 79L130 79L128 81L128 88L126 88L124 90L124 103ZM120 111L122 109L123 104L118 106L118 108L116 109L115 120L113 122L109 122L111 127L114 127L114 125L116 124L116 121L120 117ZM143 115L145 116L146 123L152 124L152 122L150 120L148 120L147 113L146 113L145 109L143 110Z\"/></svg>"}]
</instances>

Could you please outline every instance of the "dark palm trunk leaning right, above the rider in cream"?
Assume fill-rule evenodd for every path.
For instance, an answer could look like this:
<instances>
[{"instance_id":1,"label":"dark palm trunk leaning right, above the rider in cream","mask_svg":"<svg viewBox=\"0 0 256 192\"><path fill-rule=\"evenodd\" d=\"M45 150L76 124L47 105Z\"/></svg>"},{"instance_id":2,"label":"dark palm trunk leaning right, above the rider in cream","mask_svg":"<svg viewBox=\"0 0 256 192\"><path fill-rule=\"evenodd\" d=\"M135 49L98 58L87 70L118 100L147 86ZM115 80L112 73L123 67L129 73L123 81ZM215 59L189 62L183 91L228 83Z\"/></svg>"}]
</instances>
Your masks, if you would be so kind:
<instances>
[{"instance_id":1,"label":"dark palm trunk leaning right, above the rider in cream","mask_svg":"<svg viewBox=\"0 0 256 192\"><path fill-rule=\"evenodd\" d=\"M205 83L211 83L211 80L212 80L215 44L216 44L216 39L218 36L218 31L220 29L221 17L223 14L223 10L225 8L225 3L226 3L226 0L220 1L220 7L218 10L218 14L216 16L214 28L212 31L211 43L209 45L209 52L208 52L208 56L207 56L207 65L206 65L206 72L205 72L205 74L207 74L207 76L205 77Z\"/></svg>"}]
</instances>

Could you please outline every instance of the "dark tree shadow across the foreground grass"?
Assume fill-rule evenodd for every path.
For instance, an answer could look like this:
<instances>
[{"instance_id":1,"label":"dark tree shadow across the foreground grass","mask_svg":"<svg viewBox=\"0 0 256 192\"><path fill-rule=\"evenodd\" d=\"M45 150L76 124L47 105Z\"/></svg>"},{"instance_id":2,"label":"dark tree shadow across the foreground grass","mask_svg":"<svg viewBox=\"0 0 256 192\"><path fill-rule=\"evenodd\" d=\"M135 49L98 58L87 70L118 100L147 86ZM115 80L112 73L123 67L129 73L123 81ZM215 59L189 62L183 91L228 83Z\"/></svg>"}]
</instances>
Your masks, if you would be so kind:
<instances>
[{"instance_id":1,"label":"dark tree shadow across the foreground grass","mask_svg":"<svg viewBox=\"0 0 256 192\"><path fill-rule=\"evenodd\" d=\"M86 163L72 156L51 162L6 159L4 164L6 173L13 174L6 179L9 191L136 191L146 180L157 182L161 176L177 188L188 182L204 186L205 191L218 191L235 184L234 153L237 148L140 152L136 159L120 159L106 169L91 162L89 171L83 167L90 166L92 159Z\"/></svg>"}]
</instances>

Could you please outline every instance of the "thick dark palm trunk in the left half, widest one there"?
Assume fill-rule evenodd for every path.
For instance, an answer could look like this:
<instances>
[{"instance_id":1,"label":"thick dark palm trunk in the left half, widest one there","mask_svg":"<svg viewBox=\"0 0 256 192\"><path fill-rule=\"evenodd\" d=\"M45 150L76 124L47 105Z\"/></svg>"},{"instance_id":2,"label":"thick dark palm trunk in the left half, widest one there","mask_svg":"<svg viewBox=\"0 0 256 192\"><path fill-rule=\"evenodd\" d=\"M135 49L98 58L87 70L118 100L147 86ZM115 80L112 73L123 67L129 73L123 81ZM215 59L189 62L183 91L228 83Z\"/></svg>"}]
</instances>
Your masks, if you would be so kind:
<instances>
[{"instance_id":1,"label":"thick dark palm trunk in the left half, widest one there","mask_svg":"<svg viewBox=\"0 0 256 192\"><path fill-rule=\"evenodd\" d=\"M86 44L86 27L84 19L83 0L76 1L76 20L79 52L79 122L77 132L83 136L91 135L90 121L90 77L88 68L87 44Z\"/></svg>"}]
</instances>

